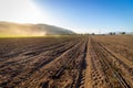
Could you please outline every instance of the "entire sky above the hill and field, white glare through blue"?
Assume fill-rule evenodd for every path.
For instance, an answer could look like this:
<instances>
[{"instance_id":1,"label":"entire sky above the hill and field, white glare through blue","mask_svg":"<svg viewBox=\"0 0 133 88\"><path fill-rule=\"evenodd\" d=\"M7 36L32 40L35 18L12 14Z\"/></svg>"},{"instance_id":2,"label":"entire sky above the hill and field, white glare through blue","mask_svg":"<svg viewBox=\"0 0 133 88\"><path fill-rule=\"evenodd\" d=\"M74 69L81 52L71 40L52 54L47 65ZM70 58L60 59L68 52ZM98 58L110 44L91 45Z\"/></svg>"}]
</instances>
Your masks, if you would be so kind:
<instances>
[{"instance_id":1,"label":"entire sky above the hill and field, white glare through blue","mask_svg":"<svg viewBox=\"0 0 133 88\"><path fill-rule=\"evenodd\" d=\"M0 21L47 23L78 33L133 31L133 0L0 0Z\"/></svg>"}]
</instances>

